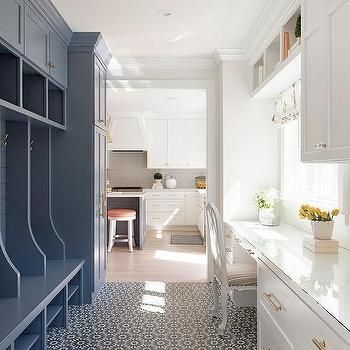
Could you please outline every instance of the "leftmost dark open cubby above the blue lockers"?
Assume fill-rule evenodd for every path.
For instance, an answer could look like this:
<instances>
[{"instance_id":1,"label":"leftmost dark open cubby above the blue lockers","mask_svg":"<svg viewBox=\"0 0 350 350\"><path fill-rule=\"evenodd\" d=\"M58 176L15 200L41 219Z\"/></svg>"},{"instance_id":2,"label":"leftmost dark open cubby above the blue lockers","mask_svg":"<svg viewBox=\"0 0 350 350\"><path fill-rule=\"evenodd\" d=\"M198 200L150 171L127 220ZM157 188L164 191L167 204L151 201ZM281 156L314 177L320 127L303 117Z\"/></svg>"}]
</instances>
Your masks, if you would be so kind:
<instances>
[{"instance_id":1,"label":"leftmost dark open cubby above the blue lockers","mask_svg":"<svg viewBox=\"0 0 350 350\"><path fill-rule=\"evenodd\" d=\"M19 58L0 44L0 99L18 105Z\"/></svg>"}]
</instances>

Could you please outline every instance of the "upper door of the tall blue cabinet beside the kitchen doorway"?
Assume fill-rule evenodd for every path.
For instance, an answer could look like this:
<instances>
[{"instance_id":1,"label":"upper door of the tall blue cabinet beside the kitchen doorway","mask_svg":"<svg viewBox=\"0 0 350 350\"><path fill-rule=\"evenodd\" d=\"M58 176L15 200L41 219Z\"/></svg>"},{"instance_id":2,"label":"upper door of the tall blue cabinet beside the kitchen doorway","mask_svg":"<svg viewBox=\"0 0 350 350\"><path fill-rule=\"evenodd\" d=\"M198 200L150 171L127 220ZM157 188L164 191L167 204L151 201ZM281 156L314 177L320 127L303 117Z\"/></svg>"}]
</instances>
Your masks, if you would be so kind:
<instances>
[{"instance_id":1,"label":"upper door of the tall blue cabinet beside the kitchen doorway","mask_svg":"<svg viewBox=\"0 0 350 350\"><path fill-rule=\"evenodd\" d=\"M95 58L95 125L106 129L106 70Z\"/></svg>"}]
</instances>

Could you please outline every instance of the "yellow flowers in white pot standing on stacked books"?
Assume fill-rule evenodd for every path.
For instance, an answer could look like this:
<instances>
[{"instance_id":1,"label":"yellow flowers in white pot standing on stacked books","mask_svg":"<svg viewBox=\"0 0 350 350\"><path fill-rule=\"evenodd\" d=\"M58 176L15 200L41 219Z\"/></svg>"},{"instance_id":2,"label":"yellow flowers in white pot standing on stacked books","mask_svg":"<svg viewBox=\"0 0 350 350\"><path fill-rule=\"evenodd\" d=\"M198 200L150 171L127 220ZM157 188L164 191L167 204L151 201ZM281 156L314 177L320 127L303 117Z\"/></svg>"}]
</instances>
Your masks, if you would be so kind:
<instances>
[{"instance_id":1,"label":"yellow flowers in white pot standing on stacked books","mask_svg":"<svg viewBox=\"0 0 350 350\"><path fill-rule=\"evenodd\" d=\"M321 210L309 204L303 204L299 209L299 217L311 221L312 233L315 239L331 239L334 228L334 218L339 215L339 209Z\"/></svg>"}]
</instances>

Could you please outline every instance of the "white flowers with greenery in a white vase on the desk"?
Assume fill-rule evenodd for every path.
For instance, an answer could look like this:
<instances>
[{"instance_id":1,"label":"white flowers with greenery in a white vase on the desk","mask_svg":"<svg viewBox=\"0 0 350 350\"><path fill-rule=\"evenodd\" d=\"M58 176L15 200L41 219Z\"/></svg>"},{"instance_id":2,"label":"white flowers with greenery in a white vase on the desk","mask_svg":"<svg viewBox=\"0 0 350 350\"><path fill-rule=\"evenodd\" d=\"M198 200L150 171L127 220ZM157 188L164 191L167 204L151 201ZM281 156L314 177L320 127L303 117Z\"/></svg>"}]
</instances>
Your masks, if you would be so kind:
<instances>
[{"instance_id":1,"label":"white flowers with greenery in a white vase on the desk","mask_svg":"<svg viewBox=\"0 0 350 350\"><path fill-rule=\"evenodd\" d=\"M255 193L254 201L259 209L259 221L262 225L277 226L279 224L279 216L276 209L279 200L279 192L274 188Z\"/></svg>"}]
</instances>

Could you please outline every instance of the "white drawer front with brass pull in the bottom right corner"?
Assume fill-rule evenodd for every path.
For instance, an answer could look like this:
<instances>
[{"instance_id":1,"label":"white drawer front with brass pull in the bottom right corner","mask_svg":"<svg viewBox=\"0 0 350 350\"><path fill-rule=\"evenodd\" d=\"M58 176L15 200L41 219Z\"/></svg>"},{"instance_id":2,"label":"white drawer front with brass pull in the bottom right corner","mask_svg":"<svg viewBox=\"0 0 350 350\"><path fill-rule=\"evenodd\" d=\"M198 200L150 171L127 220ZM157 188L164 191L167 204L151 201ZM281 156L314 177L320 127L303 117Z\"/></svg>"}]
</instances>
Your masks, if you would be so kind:
<instances>
[{"instance_id":1,"label":"white drawer front with brass pull in the bottom right corner","mask_svg":"<svg viewBox=\"0 0 350 350\"><path fill-rule=\"evenodd\" d=\"M319 316L317 316L304 302L299 300L299 348L301 350L348 350L348 344L336 334Z\"/></svg>"}]
</instances>

